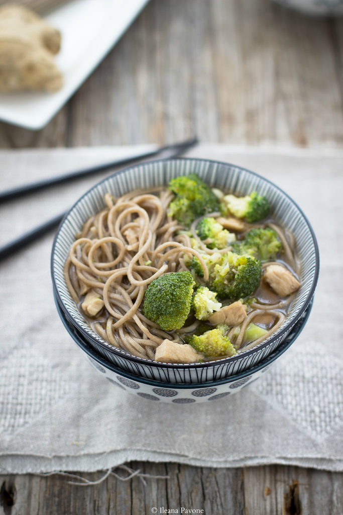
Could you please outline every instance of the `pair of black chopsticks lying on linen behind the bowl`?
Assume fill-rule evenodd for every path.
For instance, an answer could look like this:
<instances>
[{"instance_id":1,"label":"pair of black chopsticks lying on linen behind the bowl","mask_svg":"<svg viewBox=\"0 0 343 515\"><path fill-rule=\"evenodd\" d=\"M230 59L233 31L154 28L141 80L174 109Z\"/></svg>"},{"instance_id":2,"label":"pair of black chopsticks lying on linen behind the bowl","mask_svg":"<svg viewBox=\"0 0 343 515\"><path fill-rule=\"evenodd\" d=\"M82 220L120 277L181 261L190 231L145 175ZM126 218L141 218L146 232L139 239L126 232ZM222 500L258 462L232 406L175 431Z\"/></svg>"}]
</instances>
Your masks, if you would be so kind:
<instances>
[{"instance_id":1,"label":"pair of black chopsticks lying on linen behind the bowl","mask_svg":"<svg viewBox=\"0 0 343 515\"><path fill-rule=\"evenodd\" d=\"M85 168L83 170L77 170L77 171L71 172L69 174L65 174L65 175L61 175L58 177L46 179L43 181L19 186L19 187L13 188L12 190L0 192L0 203L7 202L8 200L14 200L17 198L21 198L25 195L29 195L29 194L35 193L37 191L45 190L45 189L47 189L51 186L55 186L57 184L63 184L63 183L71 182L73 180L77 180L77 179L80 179L83 177L94 175L100 171L104 171L106 169L113 168L115 166L123 166L123 165L127 165L130 163L135 163L136 161L147 160L147 159L150 159L153 157L157 157L158 159L163 159L163 160L176 158L177 156L179 156L183 152L185 152L188 148L193 147L197 143L198 143L198 139L195 136L191 140L187 140L187 141L180 142L180 143L175 143L173 145L167 145L164 147L160 147L157 150L154 150L152 152L146 152L146 153L143 153L138 156L131 157L131 158L124 158L124 159L112 161L109 163L103 163L98 166L92 166L89 168ZM164 156L164 154L165 154L165 156ZM116 173L118 173L119 171L120 170L117 170ZM3 247L0 247L0 261L5 258L8 258L14 252L23 249L27 245L37 241L37 239L44 236L52 229L55 229L56 227L58 227L60 225L61 221L63 220L64 216L65 216L65 213L61 213L60 215L46 221L44 224L42 224L38 227L35 227L31 231L23 234L22 236L19 236L18 238L14 239L13 241L5 244Z\"/></svg>"}]
</instances>

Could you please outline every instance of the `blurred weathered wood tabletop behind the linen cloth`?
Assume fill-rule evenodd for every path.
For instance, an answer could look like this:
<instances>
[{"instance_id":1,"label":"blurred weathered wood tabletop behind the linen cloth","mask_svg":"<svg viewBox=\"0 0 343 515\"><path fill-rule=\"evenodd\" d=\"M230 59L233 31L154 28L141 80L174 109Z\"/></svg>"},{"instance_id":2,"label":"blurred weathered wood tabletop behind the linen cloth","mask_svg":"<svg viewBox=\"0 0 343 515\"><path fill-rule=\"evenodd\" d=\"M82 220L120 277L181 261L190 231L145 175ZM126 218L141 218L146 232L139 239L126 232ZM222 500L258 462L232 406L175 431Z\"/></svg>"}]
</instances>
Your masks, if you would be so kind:
<instances>
[{"instance_id":1,"label":"blurred weathered wood tabletop behind the linen cloth","mask_svg":"<svg viewBox=\"0 0 343 515\"><path fill-rule=\"evenodd\" d=\"M0 147L342 146L342 29L263 0L151 0L46 128L1 123Z\"/></svg>"}]
</instances>

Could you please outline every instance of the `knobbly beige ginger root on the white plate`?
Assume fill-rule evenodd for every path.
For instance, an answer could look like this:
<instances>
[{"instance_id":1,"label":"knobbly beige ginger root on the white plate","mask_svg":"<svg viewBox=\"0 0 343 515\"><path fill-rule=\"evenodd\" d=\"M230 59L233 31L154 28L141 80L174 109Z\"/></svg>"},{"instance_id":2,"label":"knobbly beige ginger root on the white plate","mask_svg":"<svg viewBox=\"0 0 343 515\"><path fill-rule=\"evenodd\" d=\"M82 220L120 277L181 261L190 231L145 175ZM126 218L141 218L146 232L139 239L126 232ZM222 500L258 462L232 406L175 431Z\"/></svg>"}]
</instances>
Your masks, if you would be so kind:
<instances>
[{"instance_id":1,"label":"knobbly beige ginger root on the white plate","mask_svg":"<svg viewBox=\"0 0 343 515\"><path fill-rule=\"evenodd\" d=\"M0 91L55 92L62 73L53 61L61 34L22 6L0 8Z\"/></svg>"}]
</instances>

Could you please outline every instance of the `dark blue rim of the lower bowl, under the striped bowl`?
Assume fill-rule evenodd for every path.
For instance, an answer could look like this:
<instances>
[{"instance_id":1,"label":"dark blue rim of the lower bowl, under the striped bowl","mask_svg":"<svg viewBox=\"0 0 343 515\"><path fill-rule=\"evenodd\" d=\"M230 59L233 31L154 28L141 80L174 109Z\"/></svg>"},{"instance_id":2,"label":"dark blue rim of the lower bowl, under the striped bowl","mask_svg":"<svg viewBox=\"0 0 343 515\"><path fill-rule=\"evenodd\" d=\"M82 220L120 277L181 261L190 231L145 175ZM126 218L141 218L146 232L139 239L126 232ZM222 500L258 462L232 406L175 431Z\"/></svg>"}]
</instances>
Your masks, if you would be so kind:
<instances>
[{"instance_id":1,"label":"dark blue rim of the lower bowl, under the striped bowl","mask_svg":"<svg viewBox=\"0 0 343 515\"><path fill-rule=\"evenodd\" d=\"M243 377L246 377L248 375L252 375L259 370L267 367L268 365L272 364L276 359L281 356L291 345L295 342L295 340L300 335L301 331L305 327L306 322L308 321L308 318L310 316L312 306L313 306L313 299L310 301L310 304L306 308L306 310L303 312L301 318L295 323L293 326L291 332L287 335L287 338L282 342L282 344L271 354L269 354L265 359L263 359L261 362L259 362L254 367L248 368L242 372L239 372L235 375L230 375L227 377L223 377L222 379L213 380L213 381L204 381L203 383L169 383L164 381L156 381L154 379L148 379L147 377L138 376L135 374L132 374L130 372L127 372L125 370L122 370L120 368L117 368L113 363L110 363L106 361L105 358L100 356L95 349L93 349L87 342L82 338L82 335L80 334L80 331L75 327L75 325L71 324L69 320L66 318L64 312L62 311L61 305L58 302L58 299L54 295L55 303L57 307L58 314L60 315L60 318L62 320L62 323L71 336L73 340L76 342L78 347L84 351L89 357L94 359L99 365L102 367L111 370L112 372L115 372L119 375L122 375L126 377L127 379L131 379L132 381L138 381L143 384L148 384L152 386L159 386L164 388L175 388L175 389L194 389L194 388L208 388L209 386L219 386L222 384L232 383L234 381L238 381L240 379L243 379Z\"/></svg>"}]
</instances>

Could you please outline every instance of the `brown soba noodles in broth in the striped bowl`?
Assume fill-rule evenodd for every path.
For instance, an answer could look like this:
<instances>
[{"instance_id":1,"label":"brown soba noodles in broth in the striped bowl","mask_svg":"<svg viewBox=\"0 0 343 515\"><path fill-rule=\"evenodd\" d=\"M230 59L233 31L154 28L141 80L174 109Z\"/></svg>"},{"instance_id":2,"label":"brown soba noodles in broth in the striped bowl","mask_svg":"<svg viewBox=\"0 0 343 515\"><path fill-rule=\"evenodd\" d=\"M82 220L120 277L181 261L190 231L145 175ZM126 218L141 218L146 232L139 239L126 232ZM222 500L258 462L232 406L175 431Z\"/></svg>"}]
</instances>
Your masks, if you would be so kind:
<instances>
[{"instance_id":1,"label":"brown soba noodles in broth in the striped bowl","mask_svg":"<svg viewBox=\"0 0 343 515\"><path fill-rule=\"evenodd\" d=\"M87 318L91 328L114 347L151 360L155 348L163 340L183 343L183 335L194 333L201 321L190 317L187 327L171 332L161 330L141 311L148 285L167 272L187 270L185 260L192 256L201 263L204 282L208 279L205 261L202 254L191 247L189 233L180 232L185 228L168 215L172 198L173 193L163 187L149 192L136 190L116 201L106 194L106 207L86 221L65 263L65 281L80 312L84 315L81 304L90 290L103 301L99 315ZM212 213L210 216L219 215ZM245 230L257 226L261 227L261 224L246 224ZM282 259L297 273L294 249L290 244L292 239L273 220L268 220L264 227L277 232L283 247ZM194 224L191 232L198 239ZM202 250L213 252L200 240L199 244ZM220 252L227 250L230 248ZM270 301L265 292L261 298L258 292L254 297L256 300L250 301L251 311L242 322L239 334L235 328L228 334L238 352L257 345L276 331L292 302L292 296L275 300L275 295ZM243 345L248 324L265 314L269 319L272 317L272 327L259 339Z\"/></svg>"}]
</instances>

